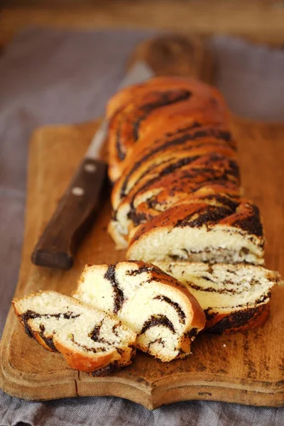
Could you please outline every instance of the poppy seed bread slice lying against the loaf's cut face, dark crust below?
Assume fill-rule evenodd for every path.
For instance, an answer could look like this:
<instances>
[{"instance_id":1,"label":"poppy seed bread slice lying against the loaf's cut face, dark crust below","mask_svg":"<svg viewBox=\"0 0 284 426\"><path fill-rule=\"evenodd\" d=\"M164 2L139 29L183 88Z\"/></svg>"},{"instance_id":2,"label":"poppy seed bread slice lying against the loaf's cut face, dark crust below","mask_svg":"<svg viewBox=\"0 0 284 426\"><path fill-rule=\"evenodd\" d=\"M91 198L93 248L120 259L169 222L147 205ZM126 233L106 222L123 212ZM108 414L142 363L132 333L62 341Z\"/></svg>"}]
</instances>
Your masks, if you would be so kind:
<instances>
[{"instance_id":1,"label":"poppy seed bread slice lying against the loaf's cut face, dark crust below","mask_svg":"<svg viewBox=\"0 0 284 426\"><path fill-rule=\"evenodd\" d=\"M278 272L261 266L158 262L177 278L202 306L209 332L235 332L263 324Z\"/></svg>"}]
</instances>

